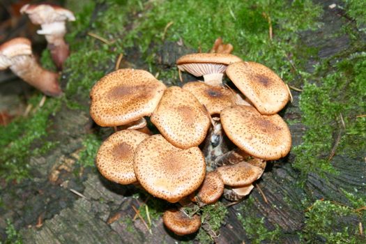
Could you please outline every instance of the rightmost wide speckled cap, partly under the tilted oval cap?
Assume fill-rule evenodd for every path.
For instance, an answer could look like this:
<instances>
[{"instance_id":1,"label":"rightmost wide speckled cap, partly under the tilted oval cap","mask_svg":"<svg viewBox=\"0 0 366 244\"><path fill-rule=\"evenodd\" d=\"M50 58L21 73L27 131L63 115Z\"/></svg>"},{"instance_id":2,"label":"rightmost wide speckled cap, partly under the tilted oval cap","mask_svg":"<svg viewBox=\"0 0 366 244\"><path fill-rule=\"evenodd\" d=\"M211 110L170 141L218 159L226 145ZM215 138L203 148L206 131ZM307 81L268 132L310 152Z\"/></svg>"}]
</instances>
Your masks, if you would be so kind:
<instances>
[{"instance_id":1,"label":"rightmost wide speckled cap, partly under the tilted oval cap","mask_svg":"<svg viewBox=\"0 0 366 244\"><path fill-rule=\"evenodd\" d=\"M236 105L220 114L222 128L236 146L254 157L277 160L291 149L291 134L278 115L263 115L254 107Z\"/></svg>"}]
</instances>

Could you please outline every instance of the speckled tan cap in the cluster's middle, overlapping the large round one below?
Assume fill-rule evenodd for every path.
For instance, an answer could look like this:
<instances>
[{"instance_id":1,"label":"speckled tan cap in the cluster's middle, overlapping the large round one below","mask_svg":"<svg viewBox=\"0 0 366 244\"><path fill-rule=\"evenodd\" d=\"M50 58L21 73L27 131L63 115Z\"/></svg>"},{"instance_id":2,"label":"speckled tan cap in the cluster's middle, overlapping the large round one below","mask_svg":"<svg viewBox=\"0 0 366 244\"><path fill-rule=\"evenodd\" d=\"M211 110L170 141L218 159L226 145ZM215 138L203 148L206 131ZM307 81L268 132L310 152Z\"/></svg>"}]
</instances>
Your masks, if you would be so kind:
<instances>
[{"instance_id":1,"label":"speckled tan cap in the cluster's middle, overlapping the large round one below","mask_svg":"<svg viewBox=\"0 0 366 244\"><path fill-rule=\"evenodd\" d=\"M171 86L165 91L151 115L151 122L171 144L179 148L201 144L210 127L208 114L197 98L178 86Z\"/></svg>"}]
</instances>

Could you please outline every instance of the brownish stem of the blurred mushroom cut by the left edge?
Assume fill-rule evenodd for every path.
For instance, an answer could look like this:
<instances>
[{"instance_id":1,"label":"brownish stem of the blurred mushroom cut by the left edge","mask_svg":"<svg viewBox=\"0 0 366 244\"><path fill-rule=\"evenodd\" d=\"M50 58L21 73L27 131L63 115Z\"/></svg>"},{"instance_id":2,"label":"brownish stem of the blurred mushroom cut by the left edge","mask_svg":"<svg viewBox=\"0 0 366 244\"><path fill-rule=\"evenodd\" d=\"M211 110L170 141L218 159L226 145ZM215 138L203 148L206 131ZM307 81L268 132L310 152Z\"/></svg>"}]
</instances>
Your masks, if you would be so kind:
<instances>
[{"instance_id":1,"label":"brownish stem of the blurred mushroom cut by the left edge","mask_svg":"<svg viewBox=\"0 0 366 244\"><path fill-rule=\"evenodd\" d=\"M36 87L47 96L60 96L62 91L57 80L58 74L40 67L34 56L22 55L13 58L10 70L25 82Z\"/></svg>"}]
</instances>

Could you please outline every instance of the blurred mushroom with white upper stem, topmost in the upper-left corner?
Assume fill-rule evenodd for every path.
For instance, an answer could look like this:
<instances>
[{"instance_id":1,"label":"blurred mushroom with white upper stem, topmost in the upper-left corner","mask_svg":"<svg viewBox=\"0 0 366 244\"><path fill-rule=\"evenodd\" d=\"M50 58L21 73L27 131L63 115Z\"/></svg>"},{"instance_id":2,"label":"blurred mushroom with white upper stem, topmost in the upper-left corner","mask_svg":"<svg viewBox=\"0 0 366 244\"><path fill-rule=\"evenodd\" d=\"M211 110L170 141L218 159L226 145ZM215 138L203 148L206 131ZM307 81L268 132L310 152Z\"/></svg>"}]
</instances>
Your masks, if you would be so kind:
<instances>
[{"instance_id":1,"label":"blurred mushroom with white upper stem, topmost in the upper-left corner","mask_svg":"<svg viewBox=\"0 0 366 244\"><path fill-rule=\"evenodd\" d=\"M26 4L20 13L26 13L33 24L40 24L42 29L37 33L45 35L52 59L61 69L70 54L63 36L66 34L66 21L75 21L73 12L51 4Z\"/></svg>"}]
</instances>

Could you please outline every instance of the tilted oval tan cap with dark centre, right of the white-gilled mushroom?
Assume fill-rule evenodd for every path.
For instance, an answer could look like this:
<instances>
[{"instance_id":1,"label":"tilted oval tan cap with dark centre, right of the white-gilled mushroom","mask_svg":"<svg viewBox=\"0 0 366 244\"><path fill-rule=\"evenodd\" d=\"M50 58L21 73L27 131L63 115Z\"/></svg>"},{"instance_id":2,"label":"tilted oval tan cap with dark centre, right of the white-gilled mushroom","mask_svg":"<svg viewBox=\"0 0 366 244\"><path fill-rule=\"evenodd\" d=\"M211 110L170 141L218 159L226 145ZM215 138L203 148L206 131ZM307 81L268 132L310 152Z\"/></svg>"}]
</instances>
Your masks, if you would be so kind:
<instances>
[{"instance_id":1,"label":"tilted oval tan cap with dark centre, right of the white-gilled mushroom","mask_svg":"<svg viewBox=\"0 0 366 244\"><path fill-rule=\"evenodd\" d=\"M286 84L260 63L233 63L227 67L226 73L261 114L276 114L289 102Z\"/></svg>"}]
</instances>

